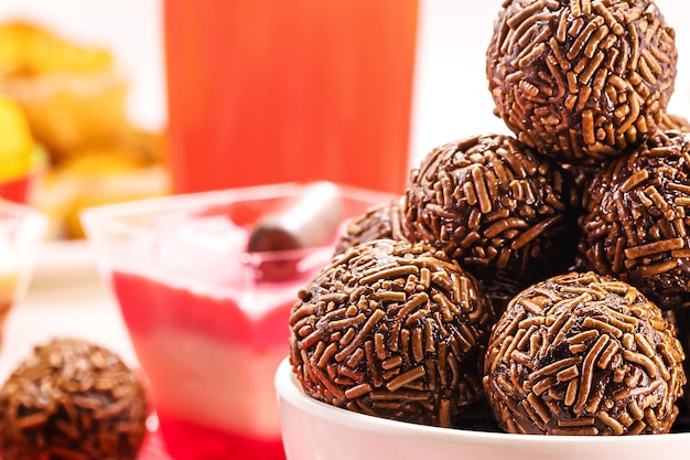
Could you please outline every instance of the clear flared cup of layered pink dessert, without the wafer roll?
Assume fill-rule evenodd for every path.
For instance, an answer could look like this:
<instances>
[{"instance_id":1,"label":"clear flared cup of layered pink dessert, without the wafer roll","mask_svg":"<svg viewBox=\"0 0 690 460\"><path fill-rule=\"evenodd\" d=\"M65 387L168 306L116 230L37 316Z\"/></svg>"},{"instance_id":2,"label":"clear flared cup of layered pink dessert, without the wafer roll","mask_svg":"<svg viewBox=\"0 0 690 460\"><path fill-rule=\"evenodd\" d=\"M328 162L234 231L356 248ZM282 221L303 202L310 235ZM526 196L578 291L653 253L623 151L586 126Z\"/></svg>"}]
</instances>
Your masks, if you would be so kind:
<instances>
[{"instance_id":1,"label":"clear flared cup of layered pink dessert, without the wafer roll","mask_svg":"<svg viewBox=\"0 0 690 460\"><path fill-rule=\"evenodd\" d=\"M301 190L231 189L83 214L177 460L284 459L273 375L289 353L289 311L331 260L343 224L315 247L248 253L246 246L256 222ZM390 199L337 188L344 220ZM262 277L265 264L276 263L294 270Z\"/></svg>"}]
</instances>

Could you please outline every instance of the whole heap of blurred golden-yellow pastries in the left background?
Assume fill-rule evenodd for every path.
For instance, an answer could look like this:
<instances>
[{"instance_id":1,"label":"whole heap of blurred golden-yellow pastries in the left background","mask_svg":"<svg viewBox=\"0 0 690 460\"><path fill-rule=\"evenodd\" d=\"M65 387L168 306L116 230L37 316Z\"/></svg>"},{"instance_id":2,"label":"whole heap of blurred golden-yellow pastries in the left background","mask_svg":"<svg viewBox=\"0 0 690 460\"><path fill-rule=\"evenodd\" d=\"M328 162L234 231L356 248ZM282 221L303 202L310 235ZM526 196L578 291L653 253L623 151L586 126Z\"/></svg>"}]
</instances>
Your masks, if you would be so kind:
<instances>
[{"instance_id":1,"label":"whole heap of blurred golden-yellow pastries in the left background","mask_svg":"<svg viewBox=\"0 0 690 460\"><path fill-rule=\"evenodd\" d=\"M129 120L128 89L110 50L0 22L0 183L32 179L50 237L82 238L87 206L169 192L162 133Z\"/></svg>"}]
</instances>

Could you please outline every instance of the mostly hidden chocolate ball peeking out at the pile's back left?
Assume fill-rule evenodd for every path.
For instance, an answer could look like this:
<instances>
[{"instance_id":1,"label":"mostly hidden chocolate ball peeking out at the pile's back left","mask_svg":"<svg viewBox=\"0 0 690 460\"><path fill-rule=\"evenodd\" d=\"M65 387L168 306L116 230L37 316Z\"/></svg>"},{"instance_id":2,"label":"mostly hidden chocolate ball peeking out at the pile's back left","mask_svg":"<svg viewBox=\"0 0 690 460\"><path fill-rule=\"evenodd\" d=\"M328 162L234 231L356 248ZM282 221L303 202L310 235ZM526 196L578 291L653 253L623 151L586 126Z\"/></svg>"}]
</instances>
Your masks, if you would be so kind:
<instances>
[{"instance_id":1,"label":"mostly hidden chocolate ball peeking out at the pile's back left","mask_svg":"<svg viewBox=\"0 0 690 460\"><path fill-rule=\"evenodd\" d=\"M353 246L373 239L405 240L403 210L405 196L397 196L370 206L347 224L345 233L338 237L335 254L343 254Z\"/></svg>"}]
</instances>

